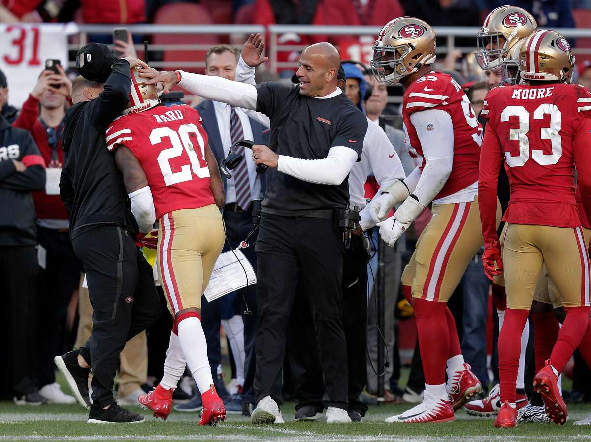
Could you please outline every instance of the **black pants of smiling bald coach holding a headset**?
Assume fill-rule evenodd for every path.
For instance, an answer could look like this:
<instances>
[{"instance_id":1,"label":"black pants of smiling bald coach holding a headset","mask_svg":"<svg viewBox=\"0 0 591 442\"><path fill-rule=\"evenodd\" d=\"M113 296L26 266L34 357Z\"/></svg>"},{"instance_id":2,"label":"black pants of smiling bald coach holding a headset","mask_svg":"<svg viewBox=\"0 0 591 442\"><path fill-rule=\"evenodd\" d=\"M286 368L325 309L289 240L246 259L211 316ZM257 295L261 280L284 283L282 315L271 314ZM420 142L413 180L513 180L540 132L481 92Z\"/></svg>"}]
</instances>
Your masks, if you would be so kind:
<instances>
[{"instance_id":1,"label":"black pants of smiling bald coach holding a headset","mask_svg":"<svg viewBox=\"0 0 591 442\"><path fill-rule=\"evenodd\" d=\"M332 219L262 215L256 241L258 330L256 400L270 395L282 403L285 337L291 307L304 295L316 330L325 407L348 407L347 352L343 333L342 235ZM364 359L365 360L365 359Z\"/></svg>"}]
</instances>

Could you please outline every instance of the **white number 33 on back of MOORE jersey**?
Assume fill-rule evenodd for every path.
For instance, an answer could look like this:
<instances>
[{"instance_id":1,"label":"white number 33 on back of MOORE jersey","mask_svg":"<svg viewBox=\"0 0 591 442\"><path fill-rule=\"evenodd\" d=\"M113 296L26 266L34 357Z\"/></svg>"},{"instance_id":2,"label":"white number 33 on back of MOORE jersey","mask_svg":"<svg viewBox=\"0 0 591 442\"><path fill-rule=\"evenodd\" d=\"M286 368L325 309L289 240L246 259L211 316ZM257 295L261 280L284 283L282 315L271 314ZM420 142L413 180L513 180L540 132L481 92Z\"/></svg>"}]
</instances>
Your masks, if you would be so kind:
<instances>
[{"instance_id":1,"label":"white number 33 on back of MOORE jersey","mask_svg":"<svg viewBox=\"0 0 591 442\"><path fill-rule=\"evenodd\" d=\"M545 115L550 115L550 127L542 128L541 139L549 139L552 146L551 154L544 154L541 149L531 150L531 158L540 165L551 165L558 163L562 156L562 139L560 129L562 124L562 112L550 103L544 103L534 111L534 120L541 120ZM511 116L517 116L519 128L509 129L509 139L519 141L519 156L512 156L511 152L505 152L506 162L509 167L521 167L530 160L530 112L523 106L507 106L501 113L501 121L509 121Z\"/></svg>"}]
</instances>

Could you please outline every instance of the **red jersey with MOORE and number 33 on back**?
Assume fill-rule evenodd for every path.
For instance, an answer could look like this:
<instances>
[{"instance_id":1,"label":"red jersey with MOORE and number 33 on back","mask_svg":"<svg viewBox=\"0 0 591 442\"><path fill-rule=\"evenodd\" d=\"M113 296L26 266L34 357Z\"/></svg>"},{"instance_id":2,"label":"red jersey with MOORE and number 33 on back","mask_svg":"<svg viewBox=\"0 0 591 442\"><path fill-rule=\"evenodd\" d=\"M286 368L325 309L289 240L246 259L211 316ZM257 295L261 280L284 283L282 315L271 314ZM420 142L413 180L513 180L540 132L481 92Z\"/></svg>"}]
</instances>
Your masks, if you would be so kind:
<instances>
[{"instance_id":1,"label":"red jersey with MOORE and number 33 on back","mask_svg":"<svg viewBox=\"0 0 591 442\"><path fill-rule=\"evenodd\" d=\"M480 161L480 207L496 191L505 162L511 185L505 222L580 226L574 167L579 174L591 174L591 164L583 161L591 149L591 94L583 86L564 83L495 87L486 95L482 114L488 125ZM482 218L484 225L486 216Z\"/></svg>"}]
</instances>

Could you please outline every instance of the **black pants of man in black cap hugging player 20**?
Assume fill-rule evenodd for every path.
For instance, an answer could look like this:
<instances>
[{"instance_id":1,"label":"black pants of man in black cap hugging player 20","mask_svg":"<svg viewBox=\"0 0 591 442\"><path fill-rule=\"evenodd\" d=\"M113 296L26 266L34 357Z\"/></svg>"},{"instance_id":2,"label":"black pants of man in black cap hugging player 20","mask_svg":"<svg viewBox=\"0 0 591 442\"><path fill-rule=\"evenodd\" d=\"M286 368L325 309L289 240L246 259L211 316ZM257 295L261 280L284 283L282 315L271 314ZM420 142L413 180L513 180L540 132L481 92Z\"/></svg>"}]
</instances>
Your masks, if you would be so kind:
<instances>
[{"instance_id":1,"label":"black pants of man in black cap hugging player 20","mask_svg":"<svg viewBox=\"0 0 591 442\"><path fill-rule=\"evenodd\" d=\"M92 334L80 354L92 367L92 399L113 402L113 382L125 343L160 315L152 267L134 238L118 226L98 226L73 240L86 269Z\"/></svg>"}]
</instances>

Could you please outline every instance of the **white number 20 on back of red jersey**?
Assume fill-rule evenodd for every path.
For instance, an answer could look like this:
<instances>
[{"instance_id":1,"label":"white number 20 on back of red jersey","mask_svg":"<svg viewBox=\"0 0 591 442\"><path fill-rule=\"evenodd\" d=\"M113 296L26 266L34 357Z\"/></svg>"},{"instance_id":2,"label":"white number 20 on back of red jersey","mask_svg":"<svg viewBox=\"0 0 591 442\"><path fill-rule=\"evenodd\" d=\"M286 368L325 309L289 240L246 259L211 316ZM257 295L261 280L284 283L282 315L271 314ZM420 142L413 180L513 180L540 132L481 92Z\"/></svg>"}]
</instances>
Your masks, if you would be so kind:
<instances>
[{"instance_id":1,"label":"white number 20 on back of red jersey","mask_svg":"<svg viewBox=\"0 0 591 442\"><path fill-rule=\"evenodd\" d=\"M193 141L191 141L191 134L195 135L197 139L197 144L199 144L197 148L205 163L205 142L197 126L193 123L181 125L178 128L178 132L173 131L171 128L161 127L154 129L150 134L150 142L152 144L159 144L163 138L168 138L173 145L173 147L164 149L158 155L158 165L160 165L160 171L164 177L164 183L167 186L183 183L183 181L190 181L193 179L193 173L199 178L209 177L209 168L207 168L207 165L206 167L201 167L197 151L195 150ZM183 155L183 151L186 151L187 155L189 155L190 164L185 164L181 166L179 171L173 172L170 166L170 160Z\"/></svg>"}]
</instances>

